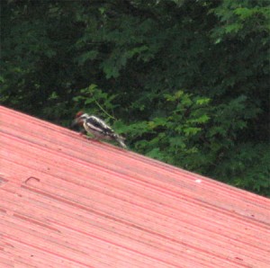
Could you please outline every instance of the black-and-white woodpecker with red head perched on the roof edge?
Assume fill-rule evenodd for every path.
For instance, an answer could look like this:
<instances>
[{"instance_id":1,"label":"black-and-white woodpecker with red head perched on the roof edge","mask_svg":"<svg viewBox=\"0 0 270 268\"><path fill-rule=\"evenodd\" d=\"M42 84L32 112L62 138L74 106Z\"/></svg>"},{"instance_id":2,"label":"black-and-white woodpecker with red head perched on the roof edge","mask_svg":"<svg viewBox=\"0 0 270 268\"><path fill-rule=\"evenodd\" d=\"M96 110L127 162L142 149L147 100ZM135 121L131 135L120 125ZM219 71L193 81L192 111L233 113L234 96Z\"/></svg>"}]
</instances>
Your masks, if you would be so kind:
<instances>
[{"instance_id":1,"label":"black-and-white woodpecker with red head perched on the roof edge","mask_svg":"<svg viewBox=\"0 0 270 268\"><path fill-rule=\"evenodd\" d=\"M96 139L116 140L121 147L126 148L124 138L116 134L103 120L94 115L89 115L85 112L77 112L75 120L72 123L72 126L74 125L84 127L84 132L94 135Z\"/></svg>"}]
</instances>

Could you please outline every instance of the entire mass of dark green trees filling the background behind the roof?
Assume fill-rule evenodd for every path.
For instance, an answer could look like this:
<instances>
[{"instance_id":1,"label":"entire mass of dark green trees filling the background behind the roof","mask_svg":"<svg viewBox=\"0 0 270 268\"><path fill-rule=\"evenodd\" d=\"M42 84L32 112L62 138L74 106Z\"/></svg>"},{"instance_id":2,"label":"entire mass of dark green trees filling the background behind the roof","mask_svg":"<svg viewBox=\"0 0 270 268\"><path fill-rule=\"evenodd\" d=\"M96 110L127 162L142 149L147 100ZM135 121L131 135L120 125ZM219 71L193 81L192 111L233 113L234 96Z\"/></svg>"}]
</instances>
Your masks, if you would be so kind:
<instances>
[{"instance_id":1,"label":"entire mass of dark green trees filling the background behind the roof","mask_svg":"<svg viewBox=\"0 0 270 268\"><path fill-rule=\"evenodd\" d=\"M64 126L97 114L132 150L270 195L269 7L3 1L0 102Z\"/></svg>"}]
</instances>

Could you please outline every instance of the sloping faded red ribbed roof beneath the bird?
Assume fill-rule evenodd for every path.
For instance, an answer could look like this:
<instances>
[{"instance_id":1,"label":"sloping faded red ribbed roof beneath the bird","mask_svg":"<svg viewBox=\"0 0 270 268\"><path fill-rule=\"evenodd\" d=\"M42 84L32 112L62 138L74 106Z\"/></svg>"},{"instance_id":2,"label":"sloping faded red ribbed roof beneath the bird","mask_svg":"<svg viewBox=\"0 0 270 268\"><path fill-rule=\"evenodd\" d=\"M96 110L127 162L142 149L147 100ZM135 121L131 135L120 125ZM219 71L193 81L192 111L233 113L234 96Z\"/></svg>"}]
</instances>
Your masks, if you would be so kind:
<instances>
[{"instance_id":1,"label":"sloping faded red ribbed roof beneath the bird","mask_svg":"<svg viewBox=\"0 0 270 268\"><path fill-rule=\"evenodd\" d=\"M264 197L1 106L0 144L1 268L270 267Z\"/></svg>"}]
</instances>

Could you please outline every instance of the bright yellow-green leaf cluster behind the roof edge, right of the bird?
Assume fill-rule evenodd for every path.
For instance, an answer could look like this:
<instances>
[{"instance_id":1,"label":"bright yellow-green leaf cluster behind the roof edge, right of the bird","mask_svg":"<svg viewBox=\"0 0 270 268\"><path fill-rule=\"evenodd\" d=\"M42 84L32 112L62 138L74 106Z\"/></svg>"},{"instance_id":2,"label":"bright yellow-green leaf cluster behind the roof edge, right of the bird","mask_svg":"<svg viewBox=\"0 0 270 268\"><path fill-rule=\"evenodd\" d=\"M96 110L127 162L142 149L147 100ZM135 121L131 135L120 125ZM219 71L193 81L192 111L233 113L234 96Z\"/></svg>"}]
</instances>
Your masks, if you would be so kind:
<instances>
[{"instance_id":1,"label":"bright yellow-green leaf cluster behind the roof edge, right of the bird","mask_svg":"<svg viewBox=\"0 0 270 268\"><path fill-rule=\"evenodd\" d=\"M187 156L198 153L197 141L210 120L208 98L177 91L164 94L166 116L122 126L133 146L142 154L191 169Z\"/></svg>"}]
</instances>

